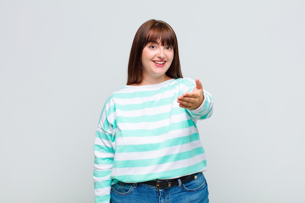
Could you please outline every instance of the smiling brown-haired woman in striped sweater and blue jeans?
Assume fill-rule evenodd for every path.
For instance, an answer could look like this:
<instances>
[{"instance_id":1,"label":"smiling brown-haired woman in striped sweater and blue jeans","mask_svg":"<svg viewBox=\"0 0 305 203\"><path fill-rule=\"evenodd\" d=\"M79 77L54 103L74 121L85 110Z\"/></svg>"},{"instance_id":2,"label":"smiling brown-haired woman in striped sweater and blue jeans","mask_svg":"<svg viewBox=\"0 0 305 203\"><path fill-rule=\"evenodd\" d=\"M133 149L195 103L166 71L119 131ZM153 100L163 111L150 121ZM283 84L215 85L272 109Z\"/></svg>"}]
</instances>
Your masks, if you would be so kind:
<instances>
[{"instance_id":1,"label":"smiling brown-haired woman in striped sweater and blue jeans","mask_svg":"<svg viewBox=\"0 0 305 203\"><path fill-rule=\"evenodd\" d=\"M102 110L95 135L95 203L208 203L196 121L213 111L199 79L183 78L171 26L135 34L128 81Z\"/></svg>"}]
</instances>

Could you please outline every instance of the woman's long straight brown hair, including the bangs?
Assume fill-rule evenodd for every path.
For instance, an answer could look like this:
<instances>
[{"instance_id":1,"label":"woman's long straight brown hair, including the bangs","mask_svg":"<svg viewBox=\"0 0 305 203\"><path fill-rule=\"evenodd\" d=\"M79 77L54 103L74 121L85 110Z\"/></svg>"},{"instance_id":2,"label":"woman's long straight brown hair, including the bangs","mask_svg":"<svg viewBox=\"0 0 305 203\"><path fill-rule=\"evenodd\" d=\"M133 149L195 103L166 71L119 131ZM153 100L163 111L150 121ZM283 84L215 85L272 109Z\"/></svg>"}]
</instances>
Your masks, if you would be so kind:
<instances>
[{"instance_id":1,"label":"woman's long straight brown hair, including the bangs","mask_svg":"<svg viewBox=\"0 0 305 203\"><path fill-rule=\"evenodd\" d=\"M129 56L127 85L142 82L142 51L149 42L158 43L160 40L162 46L171 46L174 51L172 64L166 75L172 78L183 77L180 68L177 37L172 27L164 21L151 19L144 22L134 36Z\"/></svg>"}]
</instances>

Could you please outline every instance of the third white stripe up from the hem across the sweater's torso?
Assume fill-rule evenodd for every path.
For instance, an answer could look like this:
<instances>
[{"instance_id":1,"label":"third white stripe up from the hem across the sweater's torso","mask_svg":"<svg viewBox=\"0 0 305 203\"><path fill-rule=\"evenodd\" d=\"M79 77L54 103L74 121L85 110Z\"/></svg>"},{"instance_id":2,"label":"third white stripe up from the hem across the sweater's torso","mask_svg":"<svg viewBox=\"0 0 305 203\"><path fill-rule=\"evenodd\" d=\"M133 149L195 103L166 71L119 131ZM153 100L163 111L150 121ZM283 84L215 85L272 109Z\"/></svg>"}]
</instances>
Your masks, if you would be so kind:
<instances>
[{"instance_id":1,"label":"third white stripe up from the hem across the sweater's torso","mask_svg":"<svg viewBox=\"0 0 305 203\"><path fill-rule=\"evenodd\" d=\"M197 133L197 129L195 128L186 128L186 129L176 129L169 131L167 134L162 134L158 136L151 136L151 137L117 137L115 138L115 142L117 146L122 145L144 145L144 144L153 144L153 143L162 143L166 140L184 137L191 135L193 133Z\"/></svg>"}]
</instances>

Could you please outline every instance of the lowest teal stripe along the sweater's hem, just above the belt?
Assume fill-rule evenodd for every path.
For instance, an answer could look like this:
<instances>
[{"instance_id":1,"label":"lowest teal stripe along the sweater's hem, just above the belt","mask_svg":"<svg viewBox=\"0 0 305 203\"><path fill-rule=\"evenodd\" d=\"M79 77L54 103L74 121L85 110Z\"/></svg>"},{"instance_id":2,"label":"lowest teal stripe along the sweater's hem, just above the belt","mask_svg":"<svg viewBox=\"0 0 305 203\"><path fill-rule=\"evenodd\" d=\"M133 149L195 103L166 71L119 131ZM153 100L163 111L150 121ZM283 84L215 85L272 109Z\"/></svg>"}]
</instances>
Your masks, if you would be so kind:
<instances>
[{"instance_id":1,"label":"lowest teal stripe along the sweater's hem, just above the belt","mask_svg":"<svg viewBox=\"0 0 305 203\"><path fill-rule=\"evenodd\" d=\"M143 174L143 175L115 176L114 178L116 178L118 180L122 180L123 182L144 182L144 181L150 181L150 180L155 180L155 179L170 179L172 177L176 177L177 174L181 174L181 176L184 176L186 174L195 173L197 171L202 170L206 166L207 166L207 161L204 160L202 162L199 162L198 164L183 167L183 168L166 170L166 171L161 171L161 172L157 172L157 173Z\"/></svg>"}]
</instances>

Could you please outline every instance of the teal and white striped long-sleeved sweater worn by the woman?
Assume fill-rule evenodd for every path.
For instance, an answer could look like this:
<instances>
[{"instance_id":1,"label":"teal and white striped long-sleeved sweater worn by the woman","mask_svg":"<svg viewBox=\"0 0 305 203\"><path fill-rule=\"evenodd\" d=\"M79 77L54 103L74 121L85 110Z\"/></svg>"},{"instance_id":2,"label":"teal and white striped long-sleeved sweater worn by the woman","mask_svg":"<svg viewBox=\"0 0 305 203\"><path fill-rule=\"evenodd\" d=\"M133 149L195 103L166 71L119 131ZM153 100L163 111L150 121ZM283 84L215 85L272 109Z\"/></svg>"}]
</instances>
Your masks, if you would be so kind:
<instances>
[{"instance_id":1,"label":"teal and white striped long-sleeved sweater worn by the woman","mask_svg":"<svg viewBox=\"0 0 305 203\"><path fill-rule=\"evenodd\" d=\"M190 78L126 85L106 101L95 134L95 203L109 203L111 185L173 179L206 170L196 121L209 118L211 95L196 110L179 107Z\"/></svg>"}]
</instances>

